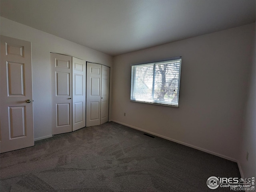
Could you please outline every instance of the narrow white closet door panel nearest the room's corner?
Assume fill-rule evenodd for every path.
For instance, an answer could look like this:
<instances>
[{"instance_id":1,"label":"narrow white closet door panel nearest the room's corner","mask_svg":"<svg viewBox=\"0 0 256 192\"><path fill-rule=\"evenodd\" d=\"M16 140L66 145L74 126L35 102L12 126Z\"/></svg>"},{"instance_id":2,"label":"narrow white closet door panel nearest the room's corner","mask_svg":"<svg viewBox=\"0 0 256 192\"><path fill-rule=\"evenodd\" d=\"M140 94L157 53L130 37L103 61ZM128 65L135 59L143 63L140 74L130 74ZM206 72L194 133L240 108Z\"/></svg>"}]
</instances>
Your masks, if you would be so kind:
<instances>
[{"instance_id":1,"label":"narrow white closet door panel nearest the room's corner","mask_svg":"<svg viewBox=\"0 0 256 192\"><path fill-rule=\"evenodd\" d=\"M110 68L102 65L100 124L108 121Z\"/></svg>"}]
</instances>

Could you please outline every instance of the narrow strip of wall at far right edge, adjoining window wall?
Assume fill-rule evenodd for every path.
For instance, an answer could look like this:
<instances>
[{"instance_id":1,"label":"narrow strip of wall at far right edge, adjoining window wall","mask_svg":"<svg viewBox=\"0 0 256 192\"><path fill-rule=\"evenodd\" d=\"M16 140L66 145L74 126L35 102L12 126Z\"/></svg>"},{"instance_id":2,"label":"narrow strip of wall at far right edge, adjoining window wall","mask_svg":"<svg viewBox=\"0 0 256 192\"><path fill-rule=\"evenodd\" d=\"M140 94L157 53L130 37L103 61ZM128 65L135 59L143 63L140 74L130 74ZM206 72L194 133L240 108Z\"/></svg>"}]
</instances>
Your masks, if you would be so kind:
<instances>
[{"instance_id":1,"label":"narrow strip of wall at far right edge, adjoining window wall","mask_svg":"<svg viewBox=\"0 0 256 192\"><path fill-rule=\"evenodd\" d=\"M255 36L254 36L255 37ZM238 158L242 173L244 177L249 178L256 176L256 89L255 89L255 38L252 40L254 43L254 49L252 49L252 65L250 68L251 75L249 76L248 95L246 102L246 110L244 114L244 126L241 133L241 151ZM246 153L249 153L248 161L246 160Z\"/></svg>"}]
</instances>

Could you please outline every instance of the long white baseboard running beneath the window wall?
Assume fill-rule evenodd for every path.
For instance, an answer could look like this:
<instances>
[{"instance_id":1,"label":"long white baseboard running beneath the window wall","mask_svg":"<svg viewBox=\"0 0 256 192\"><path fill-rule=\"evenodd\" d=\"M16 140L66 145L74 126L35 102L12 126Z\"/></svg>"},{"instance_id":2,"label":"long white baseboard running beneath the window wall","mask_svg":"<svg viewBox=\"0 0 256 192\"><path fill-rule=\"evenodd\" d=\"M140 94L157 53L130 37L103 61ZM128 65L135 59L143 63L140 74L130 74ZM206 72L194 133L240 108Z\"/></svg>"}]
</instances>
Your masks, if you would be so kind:
<instances>
[{"instance_id":1,"label":"long white baseboard running beneath the window wall","mask_svg":"<svg viewBox=\"0 0 256 192\"><path fill-rule=\"evenodd\" d=\"M213 152L213 151L209 151L209 150L203 149L203 148L201 148L201 147L196 147L196 146L194 146L194 145L190 145L190 144L188 144L188 143L184 143L184 142L178 141L178 140L176 140L176 139L172 139L172 138L169 138L169 137L165 137L165 136L163 136L163 135L159 135L159 134L154 133L154 132L151 132L151 131L146 131L146 130L144 130L144 129L140 129L140 128L138 128L138 127L134 127L134 126L128 125L128 124L126 124L126 123L122 123L122 122L115 121L115 120L110 120L110 121L113 121L113 122L116 122L116 123L125 125L125 126L127 126L127 127L131 127L131 128L134 128L134 129L138 129L138 130L140 130L140 131L143 131L143 132L146 132L146 133L150 133L150 134L156 135L156 136L158 136L158 137L162 137L162 138L167 139L167 140L169 140L169 141L173 141L173 142L175 142L175 143L180 143L180 144L182 144L182 145L186 145L186 146L188 146L188 147L192 147L192 148L194 148L194 149L198 149L198 150L200 150L200 151L204 151L204 152L206 152L206 153L210 153L210 154L212 154L212 155L216 155L216 156L218 156L218 157L222 157L222 158L224 158L224 159L228 159L228 160L230 160L230 161L234 161L234 162L238 163L238 161L237 161L236 159L233 159L233 158L228 157L228 156L226 156L226 155L222 155L222 154L219 154L219 153L215 153L215 152ZM239 167L239 163L238 163L238 167ZM240 170L240 174L241 174L241 176L242 176L242 169L241 169L241 167L239 167L239 170Z\"/></svg>"}]
</instances>

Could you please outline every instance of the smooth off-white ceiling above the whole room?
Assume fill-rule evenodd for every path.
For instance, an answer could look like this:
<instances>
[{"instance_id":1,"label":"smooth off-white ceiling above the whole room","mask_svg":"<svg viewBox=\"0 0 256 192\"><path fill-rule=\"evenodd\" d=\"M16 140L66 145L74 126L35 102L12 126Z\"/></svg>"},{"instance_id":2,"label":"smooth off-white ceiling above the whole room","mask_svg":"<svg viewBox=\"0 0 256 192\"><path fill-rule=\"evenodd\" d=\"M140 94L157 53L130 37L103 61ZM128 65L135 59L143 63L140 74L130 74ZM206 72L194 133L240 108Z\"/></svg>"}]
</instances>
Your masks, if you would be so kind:
<instances>
[{"instance_id":1,"label":"smooth off-white ceiling above the whole room","mask_svg":"<svg viewBox=\"0 0 256 192\"><path fill-rule=\"evenodd\" d=\"M1 0L1 16L108 55L255 22L255 0Z\"/></svg>"}]
</instances>

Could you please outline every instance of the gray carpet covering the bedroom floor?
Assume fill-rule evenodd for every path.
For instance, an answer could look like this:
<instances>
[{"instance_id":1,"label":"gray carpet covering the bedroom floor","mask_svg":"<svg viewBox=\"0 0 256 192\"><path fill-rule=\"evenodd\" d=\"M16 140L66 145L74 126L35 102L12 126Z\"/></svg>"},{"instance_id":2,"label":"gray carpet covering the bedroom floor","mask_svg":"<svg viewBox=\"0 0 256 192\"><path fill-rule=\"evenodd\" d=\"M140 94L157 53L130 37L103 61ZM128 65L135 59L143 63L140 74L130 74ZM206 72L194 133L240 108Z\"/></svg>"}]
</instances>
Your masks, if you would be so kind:
<instances>
[{"instance_id":1,"label":"gray carpet covering the bedroom floor","mask_svg":"<svg viewBox=\"0 0 256 192\"><path fill-rule=\"evenodd\" d=\"M237 163L114 122L0 155L1 192L217 192Z\"/></svg>"}]
</instances>

